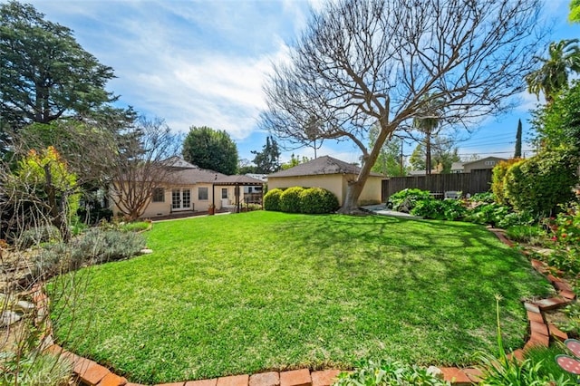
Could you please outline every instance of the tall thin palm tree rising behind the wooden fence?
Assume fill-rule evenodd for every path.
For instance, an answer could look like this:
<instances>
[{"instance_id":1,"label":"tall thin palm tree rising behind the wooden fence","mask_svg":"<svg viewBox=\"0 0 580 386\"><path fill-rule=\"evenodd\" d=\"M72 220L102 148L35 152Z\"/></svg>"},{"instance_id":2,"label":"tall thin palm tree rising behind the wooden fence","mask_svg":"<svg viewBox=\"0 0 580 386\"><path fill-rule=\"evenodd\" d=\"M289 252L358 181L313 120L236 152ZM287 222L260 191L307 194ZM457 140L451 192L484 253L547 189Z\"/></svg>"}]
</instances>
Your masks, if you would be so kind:
<instances>
[{"instance_id":1,"label":"tall thin palm tree rising behind the wooden fence","mask_svg":"<svg viewBox=\"0 0 580 386\"><path fill-rule=\"evenodd\" d=\"M419 114L413 119L413 126L425 134L425 174L431 174L431 138L437 134L440 117L443 115L444 101L431 94L420 101Z\"/></svg>"}]
</instances>

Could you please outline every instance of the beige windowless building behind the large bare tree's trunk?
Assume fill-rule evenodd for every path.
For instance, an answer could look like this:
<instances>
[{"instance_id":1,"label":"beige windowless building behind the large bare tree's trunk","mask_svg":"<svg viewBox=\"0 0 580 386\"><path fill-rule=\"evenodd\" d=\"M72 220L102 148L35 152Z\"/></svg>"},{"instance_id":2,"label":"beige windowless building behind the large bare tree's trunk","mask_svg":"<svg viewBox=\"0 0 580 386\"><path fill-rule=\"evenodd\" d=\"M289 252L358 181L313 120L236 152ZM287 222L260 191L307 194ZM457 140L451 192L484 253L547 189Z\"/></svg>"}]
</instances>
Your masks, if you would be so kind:
<instances>
[{"instance_id":1,"label":"beige windowless building behind the large bare tree's trunk","mask_svg":"<svg viewBox=\"0 0 580 386\"><path fill-rule=\"evenodd\" d=\"M358 176L361 168L329 156L301 163L294 168L268 175L268 189L273 188L325 188L330 190L343 205L349 181ZM382 174L372 172L362 189L358 205L381 202Z\"/></svg>"}]
</instances>

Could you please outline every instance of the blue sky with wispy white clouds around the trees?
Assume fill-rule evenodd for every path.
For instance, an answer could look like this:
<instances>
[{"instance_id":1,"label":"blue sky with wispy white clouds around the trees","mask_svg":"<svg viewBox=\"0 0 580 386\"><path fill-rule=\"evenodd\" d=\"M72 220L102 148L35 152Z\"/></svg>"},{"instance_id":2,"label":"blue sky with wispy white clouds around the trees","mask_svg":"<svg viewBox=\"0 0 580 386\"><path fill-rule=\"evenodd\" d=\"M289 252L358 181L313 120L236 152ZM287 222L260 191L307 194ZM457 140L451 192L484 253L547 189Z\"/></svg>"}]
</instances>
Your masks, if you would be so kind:
<instances>
[{"instance_id":1,"label":"blue sky with wispy white clouds around the trees","mask_svg":"<svg viewBox=\"0 0 580 386\"><path fill-rule=\"evenodd\" d=\"M253 159L268 133L258 116L265 109L262 91L273 63L284 60L304 29L311 8L324 0L23 0L46 19L73 29L82 47L116 78L107 89L121 106L163 118L172 130L192 126L226 130L240 159ZM4 0L0 0L4 2ZM549 41L580 37L580 24L566 21L567 0L545 0L544 18L553 25ZM517 121L530 138L529 111L535 95L522 93L518 105L462 132L459 155L469 159L513 156ZM284 146L283 143L281 145ZM404 145L411 155L416 144ZM524 156L532 148L524 144ZM282 161L314 157L314 150L285 150ZM325 141L317 156L357 162L360 150L348 142Z\"/></svg>"}]
</instances>

